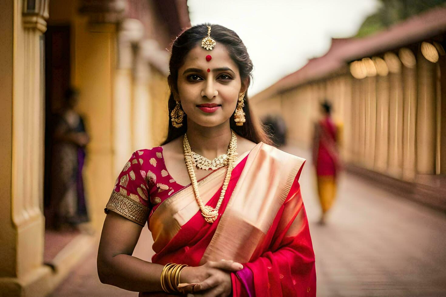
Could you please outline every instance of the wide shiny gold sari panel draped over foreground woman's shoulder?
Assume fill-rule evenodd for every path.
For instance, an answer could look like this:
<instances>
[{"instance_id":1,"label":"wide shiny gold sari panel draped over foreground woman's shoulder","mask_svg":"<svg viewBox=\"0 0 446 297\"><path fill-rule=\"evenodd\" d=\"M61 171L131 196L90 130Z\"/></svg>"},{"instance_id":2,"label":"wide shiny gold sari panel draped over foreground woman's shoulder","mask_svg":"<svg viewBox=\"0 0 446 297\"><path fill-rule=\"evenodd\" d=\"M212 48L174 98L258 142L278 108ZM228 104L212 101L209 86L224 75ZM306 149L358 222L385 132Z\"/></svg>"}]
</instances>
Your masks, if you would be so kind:
<instances>
[{"instance_id":1,"label":"wide shiny gold sari panel draped over foreground woman's shoulder","mask_svg":"<svg viewBox=\"0 0 446 297\"><path fill-rule=\"evenodd\" d=\"M248 156L244 171L240 175L232 198L226 206L200 264L207 260L217 259L234 260L240 263L248 262L264 240L277 211L285 203L304 163L305 159L273 146L261 143L256 147L256 150L253 150ZM257 196L260 189L252 189L261 179L254 172L259 168L259 165L269 170L267 174L277 175L276 178L279 180L281 176L282 180L275 187L268 188L263 198ZM252 205L254 201L257 206L260 205L257 207L260 209L258 213L252 213L253 207L256 207L256 205Z\"/></svg>"}]
</instances>

